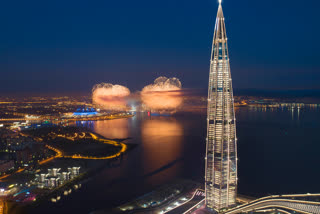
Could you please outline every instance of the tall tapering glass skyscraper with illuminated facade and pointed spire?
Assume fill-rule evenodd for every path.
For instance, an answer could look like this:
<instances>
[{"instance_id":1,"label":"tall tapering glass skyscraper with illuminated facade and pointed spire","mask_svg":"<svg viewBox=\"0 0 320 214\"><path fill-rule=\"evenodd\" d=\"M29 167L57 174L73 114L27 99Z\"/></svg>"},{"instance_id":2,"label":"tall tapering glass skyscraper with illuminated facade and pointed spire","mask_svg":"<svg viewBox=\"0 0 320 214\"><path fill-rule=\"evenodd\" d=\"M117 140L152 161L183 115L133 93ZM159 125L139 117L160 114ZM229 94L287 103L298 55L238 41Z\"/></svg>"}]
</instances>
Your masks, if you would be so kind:
<instances>
[{"instance_id":1,"label":"tall tapering glass skyscraper with illuminated facade and pointed spire","mask_svg":"<svg viewBox=\"0 0 320 214\"><path fill-rule=\"evenodd\" d=\"M206 207L216 211L235 205L237 193L234 100L228 39L219 2L210 60L205 172Z\"/></svg>"}]
</instances>

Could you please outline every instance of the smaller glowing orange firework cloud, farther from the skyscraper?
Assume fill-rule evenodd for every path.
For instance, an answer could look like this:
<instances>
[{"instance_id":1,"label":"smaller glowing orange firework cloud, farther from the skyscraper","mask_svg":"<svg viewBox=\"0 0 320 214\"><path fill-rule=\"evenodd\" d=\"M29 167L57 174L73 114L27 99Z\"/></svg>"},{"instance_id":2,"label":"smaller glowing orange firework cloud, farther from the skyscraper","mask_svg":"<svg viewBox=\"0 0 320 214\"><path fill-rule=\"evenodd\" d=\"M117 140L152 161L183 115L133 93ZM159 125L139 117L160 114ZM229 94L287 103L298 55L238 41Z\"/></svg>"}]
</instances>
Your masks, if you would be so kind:
<instances>
[{"instance_id":1,"label":"smaller glowing orange firework cloud, farther from the skyscraper","mask_svg":"<svg viewBox=\"0 0 320 214\"><path fill-rule=\"evenodd\" d=\"M126 98L129 95L130 90L121 85L100 83L92 88L93 103L101 105L104 109L125 109L127 105Z\"/></svg>"}]
</instances>

